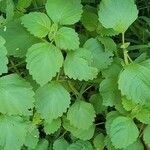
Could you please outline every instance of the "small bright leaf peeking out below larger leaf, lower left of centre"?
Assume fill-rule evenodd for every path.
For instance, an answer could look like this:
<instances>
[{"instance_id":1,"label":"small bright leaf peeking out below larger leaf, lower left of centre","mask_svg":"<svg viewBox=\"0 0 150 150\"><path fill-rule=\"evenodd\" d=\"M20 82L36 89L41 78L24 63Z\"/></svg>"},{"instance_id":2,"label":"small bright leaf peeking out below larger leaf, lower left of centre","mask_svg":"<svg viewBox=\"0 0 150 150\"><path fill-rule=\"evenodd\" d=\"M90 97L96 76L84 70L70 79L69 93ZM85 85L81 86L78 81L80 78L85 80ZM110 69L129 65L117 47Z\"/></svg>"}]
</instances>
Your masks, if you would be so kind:
<instances>
[{"instance_id":1,"label":"small bright leaf peeking out below larger leaf, lower left of centre","mask_svg":"<svg viewBox=\"0 0 150 150\"><path fill-rule=\"evenodd\" d=\"M57 118L51 122L44 122L44 131L46 134L52 134L56 132L61 126L61 119Z\"/></svg>"}]
</instances>

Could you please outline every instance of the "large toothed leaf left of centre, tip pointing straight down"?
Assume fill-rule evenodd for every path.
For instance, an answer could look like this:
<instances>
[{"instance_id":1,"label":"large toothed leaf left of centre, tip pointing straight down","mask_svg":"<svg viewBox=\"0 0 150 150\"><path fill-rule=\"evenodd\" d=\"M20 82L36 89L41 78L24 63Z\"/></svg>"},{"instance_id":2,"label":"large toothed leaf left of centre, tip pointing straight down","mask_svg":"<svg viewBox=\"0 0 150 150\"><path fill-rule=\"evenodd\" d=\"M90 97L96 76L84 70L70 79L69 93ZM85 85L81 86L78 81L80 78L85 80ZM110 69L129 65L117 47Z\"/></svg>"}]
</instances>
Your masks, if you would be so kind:
<instances>
[{"instance_id":1,"label":"large toothed leaf left of centre, tip pointing straight down","mask_svg":"<svg viewBox=\"0 0 150 150\"><path fill-rule=\"evenodd\" d=\"M38 43L28 49L27 69L41 86L51 81L63 64L63 55L52 44Z\"/></svg>"}]
</instances>

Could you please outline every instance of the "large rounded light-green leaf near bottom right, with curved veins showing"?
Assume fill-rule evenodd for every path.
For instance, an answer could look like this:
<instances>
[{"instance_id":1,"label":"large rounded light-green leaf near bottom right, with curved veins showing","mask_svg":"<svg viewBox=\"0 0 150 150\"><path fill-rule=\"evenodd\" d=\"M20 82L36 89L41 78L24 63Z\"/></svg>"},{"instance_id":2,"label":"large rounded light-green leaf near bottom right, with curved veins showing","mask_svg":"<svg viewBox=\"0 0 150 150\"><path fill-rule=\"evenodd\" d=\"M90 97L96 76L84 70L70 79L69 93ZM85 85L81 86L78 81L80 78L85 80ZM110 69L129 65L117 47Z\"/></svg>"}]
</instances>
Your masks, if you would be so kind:
<instances>
[{"instance_id":1,"label":"large rounded light-green leaf near bottom right, with curved veins showing","mask_svg":"<svg viewBox=\"0 0 150 150\"><path fill-rule=\"evenodd\" d=\"M113 120L110 137L115 148L125 148L133 144L138 136L138 128L131 118L120 116Z\"/></svg>"}]
</instances>

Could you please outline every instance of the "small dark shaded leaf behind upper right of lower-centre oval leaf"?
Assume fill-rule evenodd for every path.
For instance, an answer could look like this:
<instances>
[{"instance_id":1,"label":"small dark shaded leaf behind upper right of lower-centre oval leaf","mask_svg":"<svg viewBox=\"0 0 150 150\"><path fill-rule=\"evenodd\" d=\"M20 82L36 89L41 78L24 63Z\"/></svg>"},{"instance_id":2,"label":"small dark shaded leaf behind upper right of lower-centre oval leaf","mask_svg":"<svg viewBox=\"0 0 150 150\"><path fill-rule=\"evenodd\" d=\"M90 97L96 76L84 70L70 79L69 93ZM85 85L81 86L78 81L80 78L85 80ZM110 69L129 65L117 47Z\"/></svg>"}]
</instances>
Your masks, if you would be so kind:
<instances>
[{"instance_id":1,"label":"small dark shaded leaf behind upper right of lower-centre oval leaf","mask_svg":"<svg viewBox=\"0 0 150 150\"><path fill-rule=\"evenodd\" d=\"M103 99L100 94L93 94L89 101L93 105L96 114L102 113L102 111L105 109L105 106L103 105Z\"/></svg>"}]
</instances>

